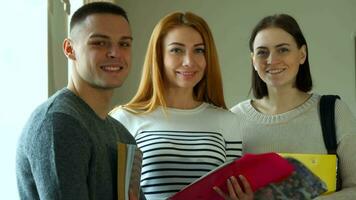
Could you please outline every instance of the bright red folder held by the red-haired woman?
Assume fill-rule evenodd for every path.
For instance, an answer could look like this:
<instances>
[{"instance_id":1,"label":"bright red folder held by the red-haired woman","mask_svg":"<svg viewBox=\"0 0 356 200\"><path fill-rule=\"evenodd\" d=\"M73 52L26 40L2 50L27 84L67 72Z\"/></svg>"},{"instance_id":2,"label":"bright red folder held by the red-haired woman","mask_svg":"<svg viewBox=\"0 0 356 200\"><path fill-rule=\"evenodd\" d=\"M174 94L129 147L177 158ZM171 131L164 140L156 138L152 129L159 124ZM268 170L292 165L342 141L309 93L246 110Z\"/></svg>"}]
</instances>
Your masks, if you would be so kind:
<instances>
[{"instance_id":1,"label":"bright red folder held by the red-haired woman","mask_svg":"<svg viewBox=\"0 0 356 200\"><path fill-rule=\"evenodd\" d=\"M223 199L213 187L218 186L227 193L226 181L231 176L237 177L240 174L245 176L252 190L256 191L269 183L282 181L293 171L293 165L276 153L246 154L209 172L169 199Z\"/></svg>"}]
</instances>

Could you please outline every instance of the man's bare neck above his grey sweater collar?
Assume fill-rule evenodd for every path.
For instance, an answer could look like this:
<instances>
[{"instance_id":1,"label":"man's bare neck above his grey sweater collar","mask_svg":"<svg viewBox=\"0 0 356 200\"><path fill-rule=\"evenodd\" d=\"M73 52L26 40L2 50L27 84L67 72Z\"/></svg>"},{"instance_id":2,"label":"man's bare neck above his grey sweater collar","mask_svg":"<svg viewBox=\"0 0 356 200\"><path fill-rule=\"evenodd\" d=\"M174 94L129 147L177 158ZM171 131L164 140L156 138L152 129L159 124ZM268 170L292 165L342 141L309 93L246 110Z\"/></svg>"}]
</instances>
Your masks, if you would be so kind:
<instances>
[{"instance_id":1,"label":"man's bare neck above his grey sweater collar","mask_svg":"<svg viewBox=\"0 0 356 200\"><path fill-rule=\"evenodd\" d=\"M93 88L89 85L78 86L72 81L68 83L67 88L83 99L101 119L106 119L113 90Z\"/></svg>"}]
</instances>

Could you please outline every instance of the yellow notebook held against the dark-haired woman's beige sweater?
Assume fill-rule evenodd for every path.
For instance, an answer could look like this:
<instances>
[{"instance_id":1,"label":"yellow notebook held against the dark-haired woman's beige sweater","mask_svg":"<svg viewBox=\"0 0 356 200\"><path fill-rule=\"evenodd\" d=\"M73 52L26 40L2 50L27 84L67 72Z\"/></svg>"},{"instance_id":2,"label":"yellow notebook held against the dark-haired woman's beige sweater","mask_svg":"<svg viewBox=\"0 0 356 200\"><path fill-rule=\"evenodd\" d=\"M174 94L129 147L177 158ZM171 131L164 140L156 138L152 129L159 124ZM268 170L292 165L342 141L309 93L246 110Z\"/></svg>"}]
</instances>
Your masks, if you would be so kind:
<instances>
[{"instance_id":1,"label":"yellow notebook held against the dark-haired woman's beige sweater","mask_svg":"<svg viewBox=\"0 0 356 200\"><path fill-rule=\"evenodd\" d=\"M328 190L324 194L335 192L336 190L336 155L330 154L296 154L296 153L279 153L283 157L291 157L299 160L315 175L323 180Z\"/></svg>"}]
</instances>

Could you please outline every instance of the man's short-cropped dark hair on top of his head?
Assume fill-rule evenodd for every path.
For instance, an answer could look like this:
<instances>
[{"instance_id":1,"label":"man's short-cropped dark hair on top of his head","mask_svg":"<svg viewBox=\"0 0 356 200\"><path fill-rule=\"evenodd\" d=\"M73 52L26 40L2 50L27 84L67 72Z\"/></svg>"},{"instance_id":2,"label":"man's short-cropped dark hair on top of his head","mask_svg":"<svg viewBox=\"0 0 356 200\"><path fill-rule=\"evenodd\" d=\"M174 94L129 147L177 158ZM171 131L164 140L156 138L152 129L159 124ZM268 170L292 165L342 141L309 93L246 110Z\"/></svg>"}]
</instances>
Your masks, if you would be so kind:
<instances>
[{"instance_id":1,"label":"man's short-cropped dark hair on top of his head","mask_svg":"<svg viewBox=\"0 0 356 200\"><path fill-rule=\"evenodd\" d=\"M85 4L74 12L70 20L70 30L72 30L76 24L84 21L89 15L100 13L119 15L129 22L126 11L120 6L109 2L93 2Z\"/></svg>"}]
</instances>

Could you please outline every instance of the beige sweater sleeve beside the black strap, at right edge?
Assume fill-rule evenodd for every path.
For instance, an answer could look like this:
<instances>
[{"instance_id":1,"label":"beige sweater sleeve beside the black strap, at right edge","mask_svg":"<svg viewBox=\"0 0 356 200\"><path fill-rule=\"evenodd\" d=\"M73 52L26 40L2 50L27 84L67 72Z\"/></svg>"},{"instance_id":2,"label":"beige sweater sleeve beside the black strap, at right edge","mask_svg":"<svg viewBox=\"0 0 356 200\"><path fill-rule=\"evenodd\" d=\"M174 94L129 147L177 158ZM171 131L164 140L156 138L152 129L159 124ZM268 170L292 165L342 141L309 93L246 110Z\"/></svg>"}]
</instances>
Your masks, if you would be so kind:
<instances>
[{"instance_id":1,"label":"beige sweater sleeve beside the black strap, at right edge","mask_svg":"<svg viewBox=\"0 0 356 200\"><path fill-rule=\"evenodd\" d=\"M356 197L356 118L348 106L336 101L335 123L338 140L337 154L340 159L342 190L318 200L348 200Z\"/></svg>"}]
</instances>

